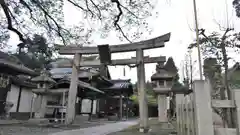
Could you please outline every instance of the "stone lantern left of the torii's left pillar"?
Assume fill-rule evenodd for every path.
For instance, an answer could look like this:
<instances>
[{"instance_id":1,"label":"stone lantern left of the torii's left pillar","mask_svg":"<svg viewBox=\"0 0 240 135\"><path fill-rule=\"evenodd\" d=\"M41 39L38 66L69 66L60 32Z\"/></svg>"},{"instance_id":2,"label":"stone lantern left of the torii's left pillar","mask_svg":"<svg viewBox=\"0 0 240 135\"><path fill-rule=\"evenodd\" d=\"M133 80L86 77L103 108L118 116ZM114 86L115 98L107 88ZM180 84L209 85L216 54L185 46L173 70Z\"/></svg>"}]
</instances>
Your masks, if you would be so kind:
<instances>
[{"instance_id":1,"label":"stone lantern left of the torii's left pillar","mask_svg":"<svg viewBox=\"0 0 240 135\"><path fill-rule=\"evenodd\" d=\"M56 82L48 76L46 71L42 71L40 76L32 78L32 81L37 83L37 89L33 92L37 94L34 101L35 118L44 118L47 106L47 91L52 84Z\"/></svg>"}]
</instances>

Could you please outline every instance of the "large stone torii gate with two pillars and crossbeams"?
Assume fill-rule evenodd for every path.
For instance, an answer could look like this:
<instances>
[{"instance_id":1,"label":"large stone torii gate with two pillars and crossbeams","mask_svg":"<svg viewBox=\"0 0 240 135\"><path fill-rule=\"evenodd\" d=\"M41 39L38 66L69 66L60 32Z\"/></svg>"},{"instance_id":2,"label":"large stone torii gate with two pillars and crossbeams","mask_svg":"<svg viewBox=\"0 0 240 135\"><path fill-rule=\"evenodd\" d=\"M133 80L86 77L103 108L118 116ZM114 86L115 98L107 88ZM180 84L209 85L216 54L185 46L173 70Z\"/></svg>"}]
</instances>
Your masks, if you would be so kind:
<instances>
[{"instance_id":1,"label":"large stone torii gate with two pillars and crossbeams","mask_svg":"<svg viewBox=\"0 0 240 135\"><path fill-rule=\"evenodd\" d=\"M144 57L143 50L160 48L165 46L165 42L170 39L170 33L135 43L111 45L108 46L108 51L111 57L111 53L119 52L130 52L136 51L136 58L132 59L118 59L111 60L108 65L129 65L136 64L137 67L137 78L138 78L138 93L139 93L139 111L140 111L140 129L142 131L148 130L148 108L145 93L145 63L157 63L161 61L166 61L166 57ZM101 46L101 45L100 45ZM71 124L75 117L75 100L77 94L77 80L78 80L78 69L79 67L95 67L100 66L100 60L96 61L82 61L82 55L88 54L99 54L99 47L82 47L82 46L65 46L61 47L59 50L61 55L74 55L73 65L72 65L72 75L70 89L68 93L68 105L65 123Z\"/></svg>"}]
</instances>

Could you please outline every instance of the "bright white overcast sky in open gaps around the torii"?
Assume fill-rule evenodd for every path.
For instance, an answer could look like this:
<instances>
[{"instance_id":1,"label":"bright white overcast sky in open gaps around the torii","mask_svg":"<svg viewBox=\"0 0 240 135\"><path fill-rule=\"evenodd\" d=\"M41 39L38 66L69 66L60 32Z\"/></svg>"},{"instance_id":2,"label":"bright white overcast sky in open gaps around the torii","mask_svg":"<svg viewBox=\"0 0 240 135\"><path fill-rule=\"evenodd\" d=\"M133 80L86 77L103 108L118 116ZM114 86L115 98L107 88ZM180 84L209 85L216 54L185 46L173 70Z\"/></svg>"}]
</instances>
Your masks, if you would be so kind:
<instances>
[{"instance_id":1,"label":"bright white overcast sky in open gaps around the torii","mask_svg":"<svg viewBox=\"0 0 240 135\"><path fill-rule=\"evenodd\" d=\"M185 58L187 46L195 39L195 33L191 31L194 28L193 3L192 0L156 0L157 6L155 11L158 11L157 18L149 18L150 27L154 30L151 35L145 34L144 39L160 36L162 34L171 32L171 38L164 48L146 50L145 56L166 56L173 57L176 66L179 68L179 74L182 76L182 61ZM232 8L232 0L196 0L198 8L199 28L205 28L207 32L219 31L216 22L223 27L230 25L236 31L240 30L240 22L235 17L235 12ZM65 4L65 23L74 24L81 20L81 17L72 16L79 14L69 4ZM15 41L13 38L9 44L15 48ZM106 39L101 39L99 35L94 35L95 44L120 44L121 41L111 34ZM135 56L135 53L113 54L113 59L130 58ZM193 59L197 60L196 50L193 52ZM123 66L110 67L110 73L114 79L132 79L133 82L137 80L136 69L129 69L126 67L126 76L123 75ZM149 80L151 75L155 72L155 64L147 64L145 66L146 79ZM194 78L199 78L197 63L194 64Z\"/></svg>"}]
</instances>

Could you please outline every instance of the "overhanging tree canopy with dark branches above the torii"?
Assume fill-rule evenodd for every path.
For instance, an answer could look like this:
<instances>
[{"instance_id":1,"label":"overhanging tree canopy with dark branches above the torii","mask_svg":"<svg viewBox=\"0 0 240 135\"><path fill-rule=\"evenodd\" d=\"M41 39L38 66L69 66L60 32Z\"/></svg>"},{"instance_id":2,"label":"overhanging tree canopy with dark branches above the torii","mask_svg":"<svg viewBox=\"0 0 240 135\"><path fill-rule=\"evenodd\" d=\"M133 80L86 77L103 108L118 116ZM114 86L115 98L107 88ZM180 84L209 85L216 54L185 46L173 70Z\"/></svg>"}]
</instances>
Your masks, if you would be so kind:
<instances>
[{"instance_id":1,"label":"overhanging tree canopy with dark branches above the torii","mask_svg":"<svg viewBox=\"0 0 240 135\"><path fill-rule=\"evenodd\" d=\"M150 31L146 18L152 15L154 2L154 0L1 0L0 45L6 46L10 31L18 35L22 46L28 44L29 37L33 37L34 34L43 35L49 43L89 44L93 32L100 31L102 37L106 37L113 29L119 32L119 37L131 42L140 37L143 31ZM65 4L81 11L81 14L73 15L74 18L83 18L78 24L69 26L64 23ZM89 22L94 24L94 27L88 26ZM130 29L131 34L128 31Z\"/></svg>"}]
</instances>

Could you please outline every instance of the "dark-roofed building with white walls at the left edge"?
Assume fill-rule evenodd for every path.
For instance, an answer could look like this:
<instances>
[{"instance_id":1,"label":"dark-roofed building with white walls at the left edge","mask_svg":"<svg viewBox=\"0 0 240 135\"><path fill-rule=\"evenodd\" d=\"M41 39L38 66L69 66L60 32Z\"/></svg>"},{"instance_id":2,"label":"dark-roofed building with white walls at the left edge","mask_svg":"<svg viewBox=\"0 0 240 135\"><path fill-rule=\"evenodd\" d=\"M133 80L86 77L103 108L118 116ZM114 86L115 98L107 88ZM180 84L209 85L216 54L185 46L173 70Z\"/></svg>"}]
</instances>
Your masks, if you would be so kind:
<instances>
[{"instance_id":1,"label":"dark-roofed building with white walls at the left edge","mask_svg":"<svg viewBox=\"0 0 240 135\"><path fill-rule=\"evenodd\" d=\"M4 52L0 52L0 69L0 115L8 113L12 118L29 118L32 88L36 88L30 78L38 74ZM9 104L11 107L5 112Z\"/></svg>"}]
</instances>

